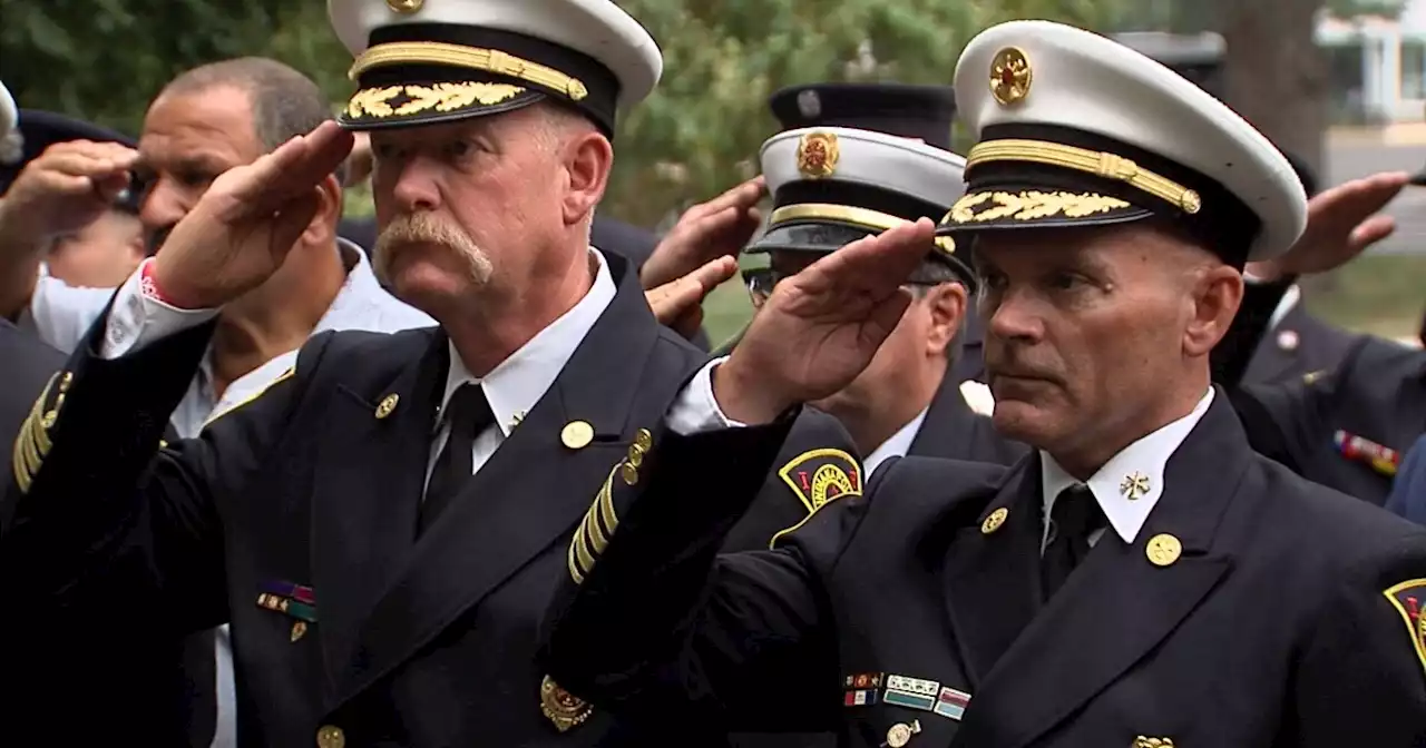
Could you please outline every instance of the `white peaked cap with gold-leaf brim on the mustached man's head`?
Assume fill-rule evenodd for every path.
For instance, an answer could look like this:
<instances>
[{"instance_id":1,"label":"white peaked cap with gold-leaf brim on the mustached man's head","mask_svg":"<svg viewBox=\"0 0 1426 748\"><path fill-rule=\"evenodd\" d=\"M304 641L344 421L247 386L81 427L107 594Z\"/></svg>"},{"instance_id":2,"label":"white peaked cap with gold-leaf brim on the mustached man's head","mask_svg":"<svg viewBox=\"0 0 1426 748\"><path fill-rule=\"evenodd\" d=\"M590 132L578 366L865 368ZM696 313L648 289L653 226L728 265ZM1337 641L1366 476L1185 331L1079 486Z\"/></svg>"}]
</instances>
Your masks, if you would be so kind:
<instances>
[{"instance_id":1,"label":"white peaked cap with gold-leaf brim on the mustached man's head","mask_svg":"<svg viewBox=\"0 0 1426 748\"><path fill-rule=\"evenodd\" d=\"M432 124L556 100L606 133L663 71L649 31L610 0L328 0L355 58L354 130Z\"/></svg>"}]
</instances>

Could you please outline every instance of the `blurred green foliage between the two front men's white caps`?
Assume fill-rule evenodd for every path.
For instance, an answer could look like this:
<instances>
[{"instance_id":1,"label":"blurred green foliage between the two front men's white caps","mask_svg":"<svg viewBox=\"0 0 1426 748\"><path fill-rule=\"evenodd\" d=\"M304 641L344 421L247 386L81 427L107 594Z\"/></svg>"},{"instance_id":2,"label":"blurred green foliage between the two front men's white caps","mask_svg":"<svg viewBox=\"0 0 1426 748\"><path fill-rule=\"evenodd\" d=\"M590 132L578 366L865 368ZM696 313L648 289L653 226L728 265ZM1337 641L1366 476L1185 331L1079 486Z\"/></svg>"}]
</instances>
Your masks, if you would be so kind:
<instances>
[{"instance_id":1,"label":"blurred green foliage between the two front men's white caps","mask_svg":"<svg viewBox=\"0 0 1426 748\"><path fill-rule=\"evenodd\" d=\"M659 90L626 115L606 209L653 225L756 174L767 97L819 81L950 84L961 47L1010 19L1114 27L1137 0L626 0L663 50Z\"/></svg>"}]
</instances>

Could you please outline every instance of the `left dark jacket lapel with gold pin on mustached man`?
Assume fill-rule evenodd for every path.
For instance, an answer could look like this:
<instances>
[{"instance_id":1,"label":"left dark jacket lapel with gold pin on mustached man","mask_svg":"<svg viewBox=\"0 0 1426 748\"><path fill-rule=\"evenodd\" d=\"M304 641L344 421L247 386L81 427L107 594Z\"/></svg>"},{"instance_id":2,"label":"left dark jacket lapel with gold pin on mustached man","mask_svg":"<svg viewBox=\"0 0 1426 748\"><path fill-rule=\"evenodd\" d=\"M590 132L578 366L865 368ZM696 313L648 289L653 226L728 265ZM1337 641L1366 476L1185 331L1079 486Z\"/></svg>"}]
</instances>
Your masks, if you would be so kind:
<instances>
[{"instance_id":1,"label":"left dark jacket lapel with gold pin on mustached man","mask_svg":"<svg viewBox=\"0 0 1426 748\"><path fill-rule=\"evenodd\" d=\"M338 385L332 393L331 440L315 459L311 551L331 680L347 661L356 623L415 543L446 359L446 336L434 331L421 358L389 385L371 392ZM395 407L378 417L392 396Z\"/></svg>"}]
</instances>

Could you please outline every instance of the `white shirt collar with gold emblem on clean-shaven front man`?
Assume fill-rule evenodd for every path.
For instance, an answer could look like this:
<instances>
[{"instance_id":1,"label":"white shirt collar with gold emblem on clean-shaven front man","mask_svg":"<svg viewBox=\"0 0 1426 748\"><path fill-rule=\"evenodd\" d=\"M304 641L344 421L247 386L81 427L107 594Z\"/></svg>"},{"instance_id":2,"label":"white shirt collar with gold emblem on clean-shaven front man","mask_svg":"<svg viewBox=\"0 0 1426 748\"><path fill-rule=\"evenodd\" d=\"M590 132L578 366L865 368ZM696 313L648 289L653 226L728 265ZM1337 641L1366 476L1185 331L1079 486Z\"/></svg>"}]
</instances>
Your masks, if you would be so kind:
<instances>
[{"instance_id":1,"label":"white shirt collar with gold emblem on clean-shaven front man","mask_svg":"<svg viewBox=\"0 0 1426 748\"><path fill-rule=\"evenodd\" d=\"M1214 388L1208 388L1208 392L1198 400L1192 412L1124 447L1084 483L1089 487L1095 503L1104 511L1109 527L1114 527L1114 531L1125 543L1134 543L1139 530L1144 529L1144 523L1149 519L1149 513L1154 511L1154 506L1164 496L1164 467L1168 466L1168 459L1178 452L1178 447L1184 445L1184 439L1188 439L1194 426L1204 419L1204 413L1208 413L1208 406L1212 402ZM1044 450L1040 450L1040 467L1044 517L1047 519L1044 523L1044 536L1040 541L1040 550L1044 553L1045 546L1050 544L1050 510L1054 509L1060 492L1079 482ZM1132 482L1137 477L1147 480L1145 492L1122 490L1127 480ZM1139 484L1142 486L1144 483ZM1104 529L1099 529L1091 533L1089 544L1098 543L1104 531Z\"/></svg>"}]
</instances>

